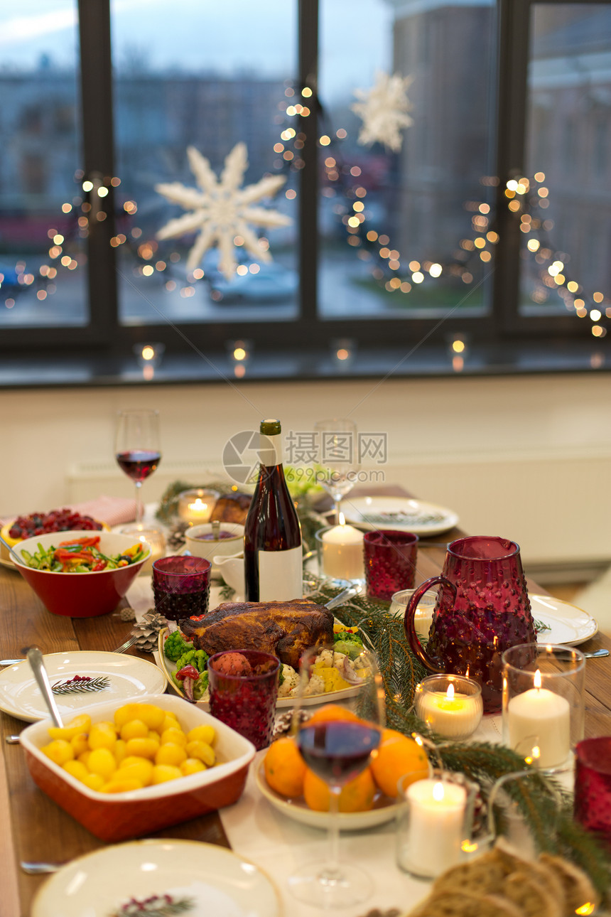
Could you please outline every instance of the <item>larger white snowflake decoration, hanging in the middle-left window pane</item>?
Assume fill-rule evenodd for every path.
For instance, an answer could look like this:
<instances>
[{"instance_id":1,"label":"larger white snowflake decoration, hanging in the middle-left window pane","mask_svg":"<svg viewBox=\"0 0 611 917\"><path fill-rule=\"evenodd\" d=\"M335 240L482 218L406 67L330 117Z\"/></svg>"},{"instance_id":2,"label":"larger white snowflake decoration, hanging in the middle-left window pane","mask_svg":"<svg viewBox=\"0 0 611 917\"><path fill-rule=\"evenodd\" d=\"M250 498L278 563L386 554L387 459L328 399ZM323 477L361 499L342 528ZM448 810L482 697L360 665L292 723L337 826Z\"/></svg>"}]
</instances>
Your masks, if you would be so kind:
<instances>
[{"instance_id":1,"label":"larger white snowflake decoration, hanging in the middle-left window pane","mask_svg":"<svg viewBox=\"0 0 611 917\"><path fill-rule=\"evenodd\" d=\"M199 229L189 257L187 270L194 271L202 260L204 253L214 244L220 252L219 270L227 280L235 274L235 236L244 239L245 249L257 260L271 261L271 255L259 245L256 234L248 224L256 226L289 226L289 216L266 207L254 207L264 197L273 197L286 182L282 175L269 175L256 184L242 187L244 173L248 166L248 153L245 143L236 143L234 149L225 157L221 180L210 167L210 162L194 147L187 148L191 171L197 188L187 188L180 182L156 184L155 190L172 204L180 204L190 213L169 220L162 226L157 238L176 238L184 233Z\"/></svg>"}]
</instances>

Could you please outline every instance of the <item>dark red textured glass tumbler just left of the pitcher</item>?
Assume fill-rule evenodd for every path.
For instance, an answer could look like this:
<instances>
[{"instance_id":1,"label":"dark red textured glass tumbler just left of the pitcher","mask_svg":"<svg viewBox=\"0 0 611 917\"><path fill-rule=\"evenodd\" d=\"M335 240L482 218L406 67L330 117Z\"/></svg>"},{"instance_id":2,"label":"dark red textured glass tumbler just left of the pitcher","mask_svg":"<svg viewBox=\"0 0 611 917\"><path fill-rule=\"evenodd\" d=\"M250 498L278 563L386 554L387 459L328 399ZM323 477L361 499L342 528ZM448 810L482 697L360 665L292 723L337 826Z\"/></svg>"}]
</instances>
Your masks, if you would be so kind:
<instances>
[{"instance_id":1,"label":"dark red textured glass tumbler just left of the pitcher","mask_svg":"<svg viewBox=\"0 0 611 917\"><path fill-rule=\"evenodd\" d=\"M366 532L363 538L367 595L390 602L395 592L413 589L418 536L394 529Z\"/></svg>"}]
</instances>

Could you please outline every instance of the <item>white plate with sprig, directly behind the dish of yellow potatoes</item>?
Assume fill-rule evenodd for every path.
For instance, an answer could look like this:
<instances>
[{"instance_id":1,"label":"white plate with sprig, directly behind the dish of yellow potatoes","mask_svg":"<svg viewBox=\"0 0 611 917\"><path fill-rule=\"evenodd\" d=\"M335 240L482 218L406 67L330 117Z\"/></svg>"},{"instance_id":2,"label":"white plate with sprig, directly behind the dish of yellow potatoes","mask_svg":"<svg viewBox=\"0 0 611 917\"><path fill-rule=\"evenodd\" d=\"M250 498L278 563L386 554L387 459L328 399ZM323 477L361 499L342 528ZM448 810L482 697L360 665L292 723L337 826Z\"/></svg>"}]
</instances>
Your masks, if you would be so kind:
<instances>
[{"instance_id":1,"label":"white plate with sprig, directly behind the dish of yellow potatoes","mask_svg":"<svg viewBox=\"0 0 611 917\"><path fill-rule=\"evenodd\" d=\"M43 659L51 688L57 686L62 689L62 693L54 691L53 697L60 716L67 720L73 714L85 710L89 712L101 703L133 700L143 694L163 694L166 690L163 672L152 662L136 656L69 650L46 654ZM71 691L70 686L64 688L65 682L75 675L94 679L92 690ZM49 717L47 705L27 661L0 672L0 710L27 723Z\"/></svg>"}]
</instances>

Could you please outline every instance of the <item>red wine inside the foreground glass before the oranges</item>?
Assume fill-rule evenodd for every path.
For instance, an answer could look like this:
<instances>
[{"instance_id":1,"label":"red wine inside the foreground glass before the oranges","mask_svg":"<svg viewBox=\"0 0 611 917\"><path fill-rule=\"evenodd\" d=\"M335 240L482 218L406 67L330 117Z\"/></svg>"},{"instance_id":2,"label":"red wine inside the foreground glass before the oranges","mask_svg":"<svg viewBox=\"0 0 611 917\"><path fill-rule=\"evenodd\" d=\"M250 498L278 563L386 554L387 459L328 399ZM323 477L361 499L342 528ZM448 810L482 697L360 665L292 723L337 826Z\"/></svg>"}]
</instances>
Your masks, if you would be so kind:
<instances>
[{"instance_id":1,"label":"red wine inside the foreground glass before the oranges","mask_svg":"<svg viewBox=\"0 0 611 917\"><path fill-rule=\"evenodd\" d=\"M309 726L297 735L301 757L327 783L344 785L355 779L380 744L380 731L367 723L329 720Z\"/></svg>"}]
</instances>

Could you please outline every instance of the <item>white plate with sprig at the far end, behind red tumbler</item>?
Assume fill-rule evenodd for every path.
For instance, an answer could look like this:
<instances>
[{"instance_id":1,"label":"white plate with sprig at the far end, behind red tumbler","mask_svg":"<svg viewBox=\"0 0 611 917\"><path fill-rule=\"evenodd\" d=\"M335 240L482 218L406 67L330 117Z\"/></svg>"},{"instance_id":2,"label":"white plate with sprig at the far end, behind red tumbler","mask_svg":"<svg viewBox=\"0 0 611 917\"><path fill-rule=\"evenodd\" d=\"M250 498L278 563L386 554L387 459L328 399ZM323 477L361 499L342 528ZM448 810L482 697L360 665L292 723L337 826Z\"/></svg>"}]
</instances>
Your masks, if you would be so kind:
<instances>
[{"instance_id":1,"label":"white plate with sprig at the far end, behind red tumbler","mask_svg":"<svg viewBox=\"0 0 611 917\"><path fill-rule=\"evenodd\" d=\"M394 528L414 535L441 535L458 525L452 510L408 497L351 497L342 501L346 522L361 528Z\"/></svg>"}]
</instances>

